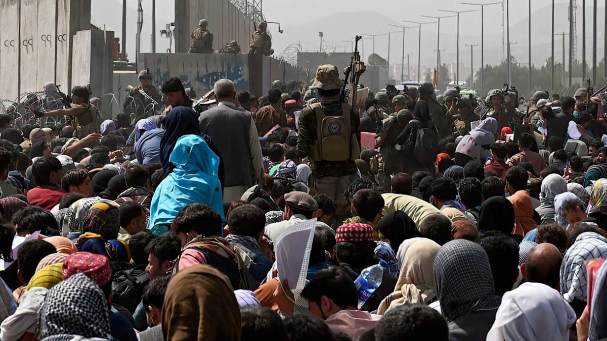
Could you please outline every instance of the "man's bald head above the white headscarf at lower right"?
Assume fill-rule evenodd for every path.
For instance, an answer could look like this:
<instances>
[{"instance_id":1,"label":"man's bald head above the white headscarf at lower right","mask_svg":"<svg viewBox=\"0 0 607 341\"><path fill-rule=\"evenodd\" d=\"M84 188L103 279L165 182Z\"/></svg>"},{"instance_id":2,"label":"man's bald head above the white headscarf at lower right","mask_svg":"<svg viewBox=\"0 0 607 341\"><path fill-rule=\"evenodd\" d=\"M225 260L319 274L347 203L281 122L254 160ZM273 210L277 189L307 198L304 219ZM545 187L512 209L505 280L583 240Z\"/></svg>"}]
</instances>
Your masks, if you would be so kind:
<instances>
[{"instance_id":1,"label":"man's bald head above the white headscarf at lower right","mask_svg":"<svg viewBox=\"0 0 607 341\"><path fill-rule=\"evenodd\" d=\"M562 261L563 255L556 246L550 243L535 246L525 262L527 282L543 283L558 289Z\"/></svg>"}]
</instances>

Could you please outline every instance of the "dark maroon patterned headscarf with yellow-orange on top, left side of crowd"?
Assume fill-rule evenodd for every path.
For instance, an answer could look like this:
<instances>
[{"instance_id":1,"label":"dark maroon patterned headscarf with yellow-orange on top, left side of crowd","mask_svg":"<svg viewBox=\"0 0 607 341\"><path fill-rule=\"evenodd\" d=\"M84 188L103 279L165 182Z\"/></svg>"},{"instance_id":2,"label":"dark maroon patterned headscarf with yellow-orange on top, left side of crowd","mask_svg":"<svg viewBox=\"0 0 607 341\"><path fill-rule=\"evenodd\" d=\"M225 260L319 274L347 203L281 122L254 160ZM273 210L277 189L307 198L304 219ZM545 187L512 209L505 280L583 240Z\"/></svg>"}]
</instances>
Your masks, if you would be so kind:
<instances>
[{"instance_id":1,"label":"dark maroon patterned headscarf with yellow-orange on top, left side of crowd","mask_svg":"<svg viewBox=\"0 0 607 341\"><path fill-rule=\"evenodd\" d=\"M101 235L103 240L116 239L119 230L120 212L118 204L114 201L102 200L94 204L84 218L83 232Z\"/></svg>"}]
</instances>

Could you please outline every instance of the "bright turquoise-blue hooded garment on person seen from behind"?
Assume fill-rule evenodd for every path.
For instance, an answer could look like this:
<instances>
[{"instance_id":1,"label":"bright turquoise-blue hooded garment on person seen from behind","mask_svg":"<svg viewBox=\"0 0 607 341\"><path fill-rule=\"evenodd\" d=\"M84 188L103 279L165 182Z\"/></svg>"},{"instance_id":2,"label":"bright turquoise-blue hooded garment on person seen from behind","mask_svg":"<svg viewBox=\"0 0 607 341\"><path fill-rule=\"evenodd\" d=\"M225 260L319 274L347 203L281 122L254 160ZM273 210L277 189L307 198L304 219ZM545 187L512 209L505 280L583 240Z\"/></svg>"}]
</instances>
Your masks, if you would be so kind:
<instances>
[{"instance_id":1,"label":"bright turquoise-blue hooded garment on person seen from behind","mask_svg":"<svg viewBox=\"0 0 607 341\"><path fill-rule=\"evenodd\" d=\"M219 157L204 138L185 135L175 143L169 158L175 169L160 183L150 206L148 229L171 223L191 203L208 204L222 219L223 199L219 182ZM222 235L222 231L217 231Z\"/></svg>"}]
</instances>

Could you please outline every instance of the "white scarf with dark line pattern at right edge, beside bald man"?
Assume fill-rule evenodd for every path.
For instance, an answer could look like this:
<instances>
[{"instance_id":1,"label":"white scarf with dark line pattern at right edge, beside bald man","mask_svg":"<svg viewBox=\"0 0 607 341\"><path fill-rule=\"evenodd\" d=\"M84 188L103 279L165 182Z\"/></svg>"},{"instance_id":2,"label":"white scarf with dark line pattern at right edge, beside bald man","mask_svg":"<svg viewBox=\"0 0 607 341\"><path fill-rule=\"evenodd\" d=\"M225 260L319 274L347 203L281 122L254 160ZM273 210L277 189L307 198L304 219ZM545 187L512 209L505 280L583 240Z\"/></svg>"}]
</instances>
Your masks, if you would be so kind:
<instances>
[{"instance_id":1,"label":"white scarf with dark line pattern at right edge, beside bald man","mask_svg":"<svg viewBox=\"0 0 607 341\"><path fill-rule=\"evenodd\" d=\"M575 238L561 263L561 292L567 302L578 299L586 302L586 265L585 260L607 257L607 239L595 232L584 232Z\"/></svg>"}]
</instances>

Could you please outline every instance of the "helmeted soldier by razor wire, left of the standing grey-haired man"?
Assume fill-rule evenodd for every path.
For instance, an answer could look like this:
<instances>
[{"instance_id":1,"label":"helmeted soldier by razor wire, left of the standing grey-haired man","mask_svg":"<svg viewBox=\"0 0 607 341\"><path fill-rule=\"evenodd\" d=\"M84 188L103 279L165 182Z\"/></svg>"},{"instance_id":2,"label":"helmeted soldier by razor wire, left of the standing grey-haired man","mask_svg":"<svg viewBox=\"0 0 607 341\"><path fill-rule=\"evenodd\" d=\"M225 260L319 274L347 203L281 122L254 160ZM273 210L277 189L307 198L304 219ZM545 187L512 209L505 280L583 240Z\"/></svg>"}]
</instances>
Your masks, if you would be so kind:
<instances>
[{"instance_id":1,"label":"helmeted soldier by razor wire, left of the standing grey-haired man","mask_svg":"<svg viewBox=\"0 0 607 341\"><path fill-rule=\"evenodd\" d=\"M139 84L138 87L134 87L129 91L129 96L124 100L123 111L126 113L135 113L137 116L142 116L146 112L147 116L155 115L156 110L160 110L160 103L162 96L158 89L152 85L152 74L148 69L143 70L139 73ZM139 92L143 90L148 96L150 96L157 104L154 104L152 110L152 101L146 96Z\"/></svg>"}]
</instances>

